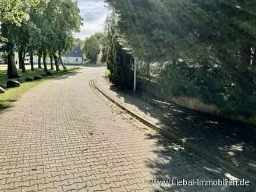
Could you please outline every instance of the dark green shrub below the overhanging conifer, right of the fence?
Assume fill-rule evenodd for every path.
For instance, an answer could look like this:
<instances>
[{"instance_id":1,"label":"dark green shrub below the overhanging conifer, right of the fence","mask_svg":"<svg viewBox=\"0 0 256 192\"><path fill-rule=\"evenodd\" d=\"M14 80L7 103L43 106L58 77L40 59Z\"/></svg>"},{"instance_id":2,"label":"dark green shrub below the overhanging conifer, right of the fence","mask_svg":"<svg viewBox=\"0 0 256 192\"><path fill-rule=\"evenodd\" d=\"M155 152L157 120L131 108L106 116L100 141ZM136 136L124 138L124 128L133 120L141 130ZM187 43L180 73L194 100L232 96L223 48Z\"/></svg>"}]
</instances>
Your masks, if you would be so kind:
<instances>
[{"instance_id":1,"label":"dark green shrub below the overhanging conifer, right of the fence","mask_svg":"<svg viewBox=\"0 0 256 192\"><path fill-rule=\"evenodd\" d=\"M217 106L219 113L226 116L250 118L256 113L255 95L244 93L236 79L221 69L176 62L167 65L161 77L163 90L174 97L200 99Z\"/></svg>"}]
</instances>

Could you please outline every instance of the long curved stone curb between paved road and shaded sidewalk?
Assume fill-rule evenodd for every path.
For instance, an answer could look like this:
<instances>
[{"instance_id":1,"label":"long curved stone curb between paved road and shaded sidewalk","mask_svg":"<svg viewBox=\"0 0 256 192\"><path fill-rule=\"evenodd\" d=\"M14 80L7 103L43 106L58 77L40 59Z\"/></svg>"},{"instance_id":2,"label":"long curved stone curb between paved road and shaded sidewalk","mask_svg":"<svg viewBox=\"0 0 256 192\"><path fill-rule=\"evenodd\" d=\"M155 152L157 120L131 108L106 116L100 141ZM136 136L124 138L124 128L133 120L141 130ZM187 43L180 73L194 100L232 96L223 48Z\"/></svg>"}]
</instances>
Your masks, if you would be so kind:
<instances>
[{"instance_id":1,"label":"long curved stone curb between paved road and shaded sidewalk","mask_svg":"<svg viewBox=\"0 0 256 192\"><path fill-rule=\"evenodd\" d=\"M224 161L223 159L216 157L215 155L212 155L211 153L209 153L206 150L203 150L202 148L198 147L198 145L195 145L193 143L190 142L186 142L183 141L182 138L180 138L179 136L177 136L176 134L170 133L169 131L166 131L165 129L163 129L161 126L156 125L155 123L152 123L148 120L145 120L141 115L136 114L135 112L133 112L132 109L130 109L129 107L123 105L121 102L118 101L118 99L115 99L111 96L109 96L108 94L106 94L104 91L102 91L99 86L97 86L97 84L94 82L94 80L91 80L93 83L93 86L102 94L104 95L106 98L108 98L110 101L112 101L113 103L117 104L118 106L120 106L120 108L124 109L125 111L129 112L132 116L134 116L136 119L140 120L141 123L147 125L148 127L151 127L152 129L158 131L158 133L161 133L163 136L171 138L172 140L174 140L176 143L182 145L184 148L190 150L190 151L194 151L196 154L204 157L205 159L207 159L208 161L214 163L215 165L221 167L222 169L233 173L234 175L243 178L243 179L247 179L250 181L250 184L253 184L253 186L256 187L256 177L252 176L250 174L248 174L246 171L241 170L239 168L236 168L233 165L230 165L229 162Z\"/></svg>"}]
</instances>

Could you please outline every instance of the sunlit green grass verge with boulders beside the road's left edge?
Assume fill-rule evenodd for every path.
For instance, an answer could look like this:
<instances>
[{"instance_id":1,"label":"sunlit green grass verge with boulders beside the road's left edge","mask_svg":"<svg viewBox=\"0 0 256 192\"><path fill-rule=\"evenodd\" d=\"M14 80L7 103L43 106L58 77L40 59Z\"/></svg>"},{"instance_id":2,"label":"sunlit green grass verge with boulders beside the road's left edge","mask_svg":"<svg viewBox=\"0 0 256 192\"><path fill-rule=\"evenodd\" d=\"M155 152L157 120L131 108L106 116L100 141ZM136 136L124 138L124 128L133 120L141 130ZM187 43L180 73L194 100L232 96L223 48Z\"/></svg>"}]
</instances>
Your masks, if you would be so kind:
<instances>
[{"instance_id":1,"label":"sunlit green grass verge with boulders beside the road's left edge","mask_svg":"<svg viewBox=\"0 0 256 192\"><path fill-rule=\"evenodd\" d=\"M70 67L67 66L67 69L69 69L69 68ZM27 70L27 73L22 73L20 70L18 70L18 71L19 71L20 78L22 78L23 81L27 77L34 77L37 74L44 73L44 69L36 69L35 71ZM24 82L20 85L20 87L7 88L5 90L4 94L0 94L0 109L8 108L9 106L12 105L13 101L16 101L24 93L29 91L31 88L37 86L38 84L40 84L44 81L47 81L49 79L54 79L56 77L63 76L65 74L69 74L69 73L73 73L73 72L77 72L77 70L71 70L69 72L57 73L57 74L54 74L52 76L43 77L44 79L42 79L42 80ZM0 66L0 84L6 84L6 81L7 81L6 78L7 78L7 76L6 76L6 66L1 65Z\"/></svg>"}]
</instances>

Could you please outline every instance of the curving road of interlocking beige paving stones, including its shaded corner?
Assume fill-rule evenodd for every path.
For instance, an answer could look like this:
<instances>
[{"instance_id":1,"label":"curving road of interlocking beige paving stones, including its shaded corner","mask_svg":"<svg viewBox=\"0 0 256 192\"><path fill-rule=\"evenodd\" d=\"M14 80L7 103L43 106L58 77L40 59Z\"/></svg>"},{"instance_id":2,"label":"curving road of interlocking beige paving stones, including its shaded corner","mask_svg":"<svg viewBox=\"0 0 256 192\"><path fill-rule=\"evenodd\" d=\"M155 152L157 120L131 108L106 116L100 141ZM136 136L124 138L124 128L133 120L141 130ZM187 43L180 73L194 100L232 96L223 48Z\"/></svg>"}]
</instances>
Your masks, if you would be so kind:
<instances>
[{"instance_id":1,"label":"curving road of interlocking beige paving stones, including its shaded corner","mask_svg":"<svg viewBox=\"0 0 256 192\"><path fill-rule=\"evenodd\" d=\"M0 191L254 191L152 186L233 177L190 154L89 86L102 67L47 81L0 114Z\"/></svg>"}]
</instances>

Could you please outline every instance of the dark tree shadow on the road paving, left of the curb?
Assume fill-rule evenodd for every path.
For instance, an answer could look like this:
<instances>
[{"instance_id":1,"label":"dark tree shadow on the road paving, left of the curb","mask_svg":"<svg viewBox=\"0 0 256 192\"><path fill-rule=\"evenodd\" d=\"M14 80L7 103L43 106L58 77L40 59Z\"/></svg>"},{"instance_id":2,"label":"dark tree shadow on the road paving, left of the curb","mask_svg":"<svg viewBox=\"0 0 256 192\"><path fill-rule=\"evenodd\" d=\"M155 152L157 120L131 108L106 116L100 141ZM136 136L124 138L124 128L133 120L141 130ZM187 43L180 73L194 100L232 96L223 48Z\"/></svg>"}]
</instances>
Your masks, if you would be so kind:
<instances>
[{"instance_id":1,"label":"dark tree shadow on the road paving, left of the curb","mask_svg":"<svg viewBox=\"0 0 256 192\"><path fill-rule=\"evenodd\" d=\"M145 164L152 170L153 180L176 180L191 179L197 180L217 180L236 179L225 170L206 161L193 152L184 150L179 145L172 143L161 134L146 134L150 140L157 140L156 145L159 150L155 150L158 158L148 159ZM149 181L152 182L152 181ZM152 184L152 183L151 183ZM152 191L254 191L253 186L161 186Z\"/></svg>"}]
</instances>

